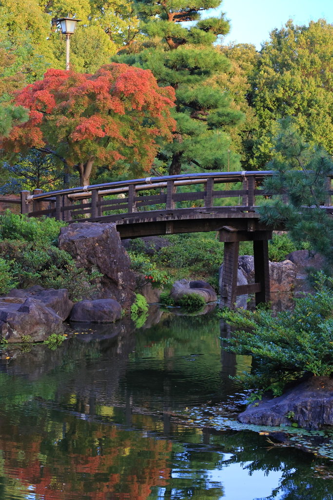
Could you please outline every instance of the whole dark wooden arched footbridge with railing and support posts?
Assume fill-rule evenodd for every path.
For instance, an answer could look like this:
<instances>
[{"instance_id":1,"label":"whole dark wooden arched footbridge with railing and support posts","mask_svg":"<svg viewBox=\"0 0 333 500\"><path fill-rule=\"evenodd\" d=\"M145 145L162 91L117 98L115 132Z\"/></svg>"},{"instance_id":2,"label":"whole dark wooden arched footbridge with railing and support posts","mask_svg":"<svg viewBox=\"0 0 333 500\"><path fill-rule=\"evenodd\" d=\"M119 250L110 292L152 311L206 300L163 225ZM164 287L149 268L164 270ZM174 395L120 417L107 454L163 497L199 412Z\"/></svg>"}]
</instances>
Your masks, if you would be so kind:
<instances>
[{"instance_id":1,"label":"whole dark wooden arched footbridge with railing and support posts","mask_svg":"<svg viewBox=\"0 0 333 500\"><path fill-rule=\"evenodd\" d=\"M190 173L46 193L40 189L33 194L21 191L21 212L34 217L54 216L68 223L78 219L114 222L121 238L219 231L220 241L224 241L221 304L231 307L236 295L244 293L256 293L257 303L266 302L270 296L268 240L272 238L272 229L259 221L256 197L273 194L260 187L264 178L272 174L273 171ZM218 184L224 188L216 190ZM237 286L240 241L253 241L254 284Z\"/></svg>"}]
</instances>

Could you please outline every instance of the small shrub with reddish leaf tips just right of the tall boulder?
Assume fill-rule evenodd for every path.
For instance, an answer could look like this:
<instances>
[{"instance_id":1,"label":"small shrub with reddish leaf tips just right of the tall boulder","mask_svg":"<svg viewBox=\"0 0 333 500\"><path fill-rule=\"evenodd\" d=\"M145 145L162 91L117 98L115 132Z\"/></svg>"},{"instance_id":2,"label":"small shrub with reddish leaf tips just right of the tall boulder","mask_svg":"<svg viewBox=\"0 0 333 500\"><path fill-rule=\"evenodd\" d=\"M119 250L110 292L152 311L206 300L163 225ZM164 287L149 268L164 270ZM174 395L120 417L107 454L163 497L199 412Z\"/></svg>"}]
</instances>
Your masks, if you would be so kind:
<instances>
[{"instance_id":1,"label":"small shrub with reddish leaf tips just right of the tall boulder","mask_svg":"<svg viewBox=\"0 0 333 500\"><path fill-rule=\"evenodd\" d=\"M147 255L142 253L128 252L131 259L132 269L138 273L137 286L151 283L153 288L163 287L172 283L170 275L166 271L157 268L155 262L151 262Z\"/></svg>"}]
</instances>

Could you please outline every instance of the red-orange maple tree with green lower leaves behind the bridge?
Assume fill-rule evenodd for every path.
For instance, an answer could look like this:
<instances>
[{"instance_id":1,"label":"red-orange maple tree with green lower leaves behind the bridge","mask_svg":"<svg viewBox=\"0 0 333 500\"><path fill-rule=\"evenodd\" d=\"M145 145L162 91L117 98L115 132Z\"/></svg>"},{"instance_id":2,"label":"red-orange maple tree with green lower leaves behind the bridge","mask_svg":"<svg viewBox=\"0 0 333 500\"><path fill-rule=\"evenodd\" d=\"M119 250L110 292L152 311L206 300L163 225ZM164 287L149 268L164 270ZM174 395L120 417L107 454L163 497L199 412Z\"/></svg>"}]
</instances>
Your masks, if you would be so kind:
<instances>
[{"instance_id":1,"label":"red-orange maple tree with green lower leaves behind the bridge","mask_svg":"<svg viewBox=\"0 0 333 500\"><path fill-rule=\"evenodd\" d=\"M65 170L78 170L83 186L93 166L127 163L139 174L150 169L156 137L172 140L174 100L173 88L159 87L148 69L117 63L95 74L49 69L17 92L15 104L29 109L29 119L1 146L9 155L30 147L53 154Z\"/></svg>"}]
</instances>

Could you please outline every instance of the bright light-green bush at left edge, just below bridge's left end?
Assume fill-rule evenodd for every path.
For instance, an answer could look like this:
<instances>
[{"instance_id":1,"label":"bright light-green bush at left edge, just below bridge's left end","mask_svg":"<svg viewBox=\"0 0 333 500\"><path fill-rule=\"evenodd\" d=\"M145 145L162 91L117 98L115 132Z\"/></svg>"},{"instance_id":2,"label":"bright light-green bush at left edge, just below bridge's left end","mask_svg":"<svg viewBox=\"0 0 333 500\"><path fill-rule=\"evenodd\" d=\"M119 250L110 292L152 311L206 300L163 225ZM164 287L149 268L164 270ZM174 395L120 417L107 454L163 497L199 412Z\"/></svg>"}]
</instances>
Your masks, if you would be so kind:
<instances>
[{"instance_id":1,"label":"bright light-green bush at left edge, just below bridge's left end","mask_svg":"<svg viewBox=\"0 0 333 500\"><path fill-rule=\"evenodd\" d=\"M60 227L67 222L49 217L27 217L6 210L0 215L0 239L18 239L20 241L56 242Z\"/></svg>"}]
</instances>

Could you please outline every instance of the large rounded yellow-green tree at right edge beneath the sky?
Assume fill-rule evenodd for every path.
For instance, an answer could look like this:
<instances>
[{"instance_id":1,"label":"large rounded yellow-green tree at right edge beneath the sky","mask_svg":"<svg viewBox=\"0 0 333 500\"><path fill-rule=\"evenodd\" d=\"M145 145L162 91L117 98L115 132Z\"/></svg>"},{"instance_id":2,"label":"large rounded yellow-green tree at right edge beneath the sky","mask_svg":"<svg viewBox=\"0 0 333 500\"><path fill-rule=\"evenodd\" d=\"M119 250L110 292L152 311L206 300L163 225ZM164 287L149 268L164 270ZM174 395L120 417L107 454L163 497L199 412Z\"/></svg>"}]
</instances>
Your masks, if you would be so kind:
<instances>
[{"instance_id":1,"label":"large rounded yellow-green tree at right edge beneath the sky","mask_svg":"<svg viewBox=\"0 0 333 500\"><path fill-rule=\"evenodd\" d=\"M305 139L333 153L333 25L325 19L298 26L289 20L265 42L251 96L259 120L253 164L272 158L274 123L294 116Z\"/></svg>"}]
</instances>

